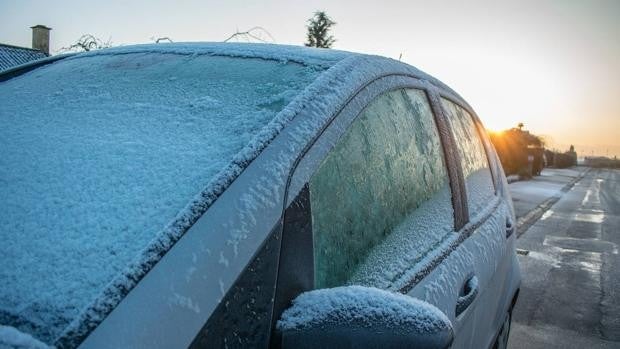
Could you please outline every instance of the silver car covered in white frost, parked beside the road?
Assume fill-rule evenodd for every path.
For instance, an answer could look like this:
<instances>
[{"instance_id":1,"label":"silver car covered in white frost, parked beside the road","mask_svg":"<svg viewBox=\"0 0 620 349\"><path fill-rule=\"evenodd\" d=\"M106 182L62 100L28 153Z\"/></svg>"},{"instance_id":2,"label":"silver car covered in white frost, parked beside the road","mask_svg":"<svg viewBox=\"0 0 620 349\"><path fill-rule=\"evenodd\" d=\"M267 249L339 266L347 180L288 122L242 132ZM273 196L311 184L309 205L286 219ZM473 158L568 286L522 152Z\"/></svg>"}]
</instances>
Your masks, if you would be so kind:
<instances>
[{"instance_id":1,"label":"silver car covered in white frost, parked beside the road","mask_svg":"<svg viewBox=\"0 0 620 349\"><path fill-rule=\"evenodd\" d=\"M505 346L470 106L395 60L157 44L0 74L0 346Z\"/></svg>"}]
</instances>

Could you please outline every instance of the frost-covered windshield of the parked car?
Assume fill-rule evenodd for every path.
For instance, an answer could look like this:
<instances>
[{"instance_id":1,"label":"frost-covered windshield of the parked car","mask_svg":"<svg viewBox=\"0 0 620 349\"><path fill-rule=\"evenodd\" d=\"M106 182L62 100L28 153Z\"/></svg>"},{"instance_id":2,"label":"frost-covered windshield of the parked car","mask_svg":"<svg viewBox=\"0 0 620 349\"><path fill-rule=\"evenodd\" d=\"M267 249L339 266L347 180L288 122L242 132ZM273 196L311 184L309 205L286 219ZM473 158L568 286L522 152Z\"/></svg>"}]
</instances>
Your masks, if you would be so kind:
<instances>
[{"instance_id":1,"label":"frost-covered windshield of the parked car","mask_svg":"<svg viewBox=\"0 0 620 349\"><path fill-rule=\"evenodd\" d=\"M0 84L0 324L53 343L321 71L98 54Z\"/></svg>"}]
</instances>

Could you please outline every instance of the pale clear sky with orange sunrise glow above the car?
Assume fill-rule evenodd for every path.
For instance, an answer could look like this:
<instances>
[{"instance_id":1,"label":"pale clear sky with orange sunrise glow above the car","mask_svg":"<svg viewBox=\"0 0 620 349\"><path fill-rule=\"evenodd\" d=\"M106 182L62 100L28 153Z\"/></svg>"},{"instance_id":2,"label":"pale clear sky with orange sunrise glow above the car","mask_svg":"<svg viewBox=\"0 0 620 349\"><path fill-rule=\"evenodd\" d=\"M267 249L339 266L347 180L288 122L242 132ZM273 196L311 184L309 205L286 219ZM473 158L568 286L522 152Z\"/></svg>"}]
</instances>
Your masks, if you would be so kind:
<instances>
[{"instance_id":1,"label":"pale clear sky with orange sunrise glow above the car","mask_svg":"<svg viewBox=\"0 0 620 349\"><path fill-rule=\"evenodd\" d=\"M337 22L333 48L400 57L456 90L488 129L522 122L550 148L620 157L618 0L0 0L0 43L30 47L30 27L43 24L52 53L86 33L128 45L223 41L255 26L301 45L317 10Z\"/></svg>"}]
</instances>

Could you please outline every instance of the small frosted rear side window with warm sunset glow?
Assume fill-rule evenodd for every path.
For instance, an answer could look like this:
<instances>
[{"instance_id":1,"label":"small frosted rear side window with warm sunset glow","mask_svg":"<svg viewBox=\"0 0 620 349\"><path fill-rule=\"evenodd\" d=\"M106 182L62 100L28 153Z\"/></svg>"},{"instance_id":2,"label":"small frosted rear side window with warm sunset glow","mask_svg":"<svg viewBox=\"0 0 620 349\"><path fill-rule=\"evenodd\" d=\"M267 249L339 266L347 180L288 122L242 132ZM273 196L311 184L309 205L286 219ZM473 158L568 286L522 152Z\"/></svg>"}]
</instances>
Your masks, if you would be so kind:
<instances>
[{"instance_id":1,"label":"small frosted rear side window with warm sunset glow","mask_svg":"<svg viewBox=\"0 0 620 349\"><path fill-rule=\"evenodd\" d=\"M461 158L467 205L471 217L480 212L495 195L489 160L471 114L447 99L441 100L447 113Z\"/></svg>"}]
</instances>

